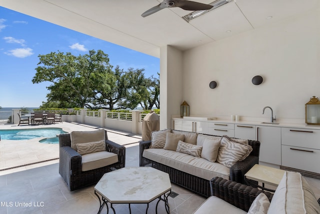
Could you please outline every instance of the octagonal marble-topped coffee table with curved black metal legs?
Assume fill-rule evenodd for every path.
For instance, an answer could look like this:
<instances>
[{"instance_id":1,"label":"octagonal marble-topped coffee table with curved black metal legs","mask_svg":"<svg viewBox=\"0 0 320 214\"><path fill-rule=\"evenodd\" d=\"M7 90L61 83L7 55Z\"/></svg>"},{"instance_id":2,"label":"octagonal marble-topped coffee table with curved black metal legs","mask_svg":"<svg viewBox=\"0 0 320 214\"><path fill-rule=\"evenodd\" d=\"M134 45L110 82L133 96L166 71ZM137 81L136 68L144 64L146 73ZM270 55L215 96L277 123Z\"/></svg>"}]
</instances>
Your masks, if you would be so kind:
<instances>
[{"instance_id":1,"label":"octagonal marble-topped coffee table with curved black metal legs","mask_svg":"<svg viewBox=\"0 0 320 214\"><path fill-rule=\"evenodd\" d=\"M168 194L166 194L168 193ZM147 213L149 203L156 198L164 201L165 210L169 213L168 195L171 193L169 175L152 167L125 167L105 173L94 186L94 194L98 197L102 210L104 204L109 213L107 202L115 213L114 203L128 203L131 213L131 203L146 203ZM100 197L100 196L101 197ZM161 197L163 195L163 198Z\"/></svg>"}]
</instances>

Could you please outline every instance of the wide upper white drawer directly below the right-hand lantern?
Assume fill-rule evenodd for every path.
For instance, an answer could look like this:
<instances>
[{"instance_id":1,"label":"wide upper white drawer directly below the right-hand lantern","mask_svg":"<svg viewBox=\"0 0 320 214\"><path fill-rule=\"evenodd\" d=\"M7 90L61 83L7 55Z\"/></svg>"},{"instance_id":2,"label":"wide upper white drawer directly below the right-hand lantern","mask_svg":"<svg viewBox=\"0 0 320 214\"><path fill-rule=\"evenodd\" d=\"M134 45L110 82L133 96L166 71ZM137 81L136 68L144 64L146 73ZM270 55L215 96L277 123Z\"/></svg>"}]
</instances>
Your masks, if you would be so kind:
<instances>
[{"instance_id":1,"label":"wide upper white drawer directly below the right-hand lantern","mask_svg":"<svg viewBox=\"0 0 320 214\"><path fill-rule=\"evenodd\" d=\"M281 128L281 144L320 149L320 130Z\"/></svg>"}]
</instances>

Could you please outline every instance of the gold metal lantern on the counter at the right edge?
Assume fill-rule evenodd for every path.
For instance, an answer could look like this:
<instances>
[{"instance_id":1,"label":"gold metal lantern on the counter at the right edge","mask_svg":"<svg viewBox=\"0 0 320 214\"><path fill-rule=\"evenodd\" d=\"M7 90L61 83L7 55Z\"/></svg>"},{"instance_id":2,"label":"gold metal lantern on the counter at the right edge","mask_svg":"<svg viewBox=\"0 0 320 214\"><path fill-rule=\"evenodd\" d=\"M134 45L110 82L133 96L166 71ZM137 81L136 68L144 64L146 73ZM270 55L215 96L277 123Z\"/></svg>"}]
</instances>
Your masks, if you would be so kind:
<instances>
[{"instance_id":1,"label":"gold metal lantern on the counter at the right edge","mask_svg":"<svg viewBox=\"0 0 320 214\"><path fill-rule=\"evenodd\" d=\"M305 104L305 123L309 125L320 125L320 101L313 96Z\"/></svg>"}]
</instances>

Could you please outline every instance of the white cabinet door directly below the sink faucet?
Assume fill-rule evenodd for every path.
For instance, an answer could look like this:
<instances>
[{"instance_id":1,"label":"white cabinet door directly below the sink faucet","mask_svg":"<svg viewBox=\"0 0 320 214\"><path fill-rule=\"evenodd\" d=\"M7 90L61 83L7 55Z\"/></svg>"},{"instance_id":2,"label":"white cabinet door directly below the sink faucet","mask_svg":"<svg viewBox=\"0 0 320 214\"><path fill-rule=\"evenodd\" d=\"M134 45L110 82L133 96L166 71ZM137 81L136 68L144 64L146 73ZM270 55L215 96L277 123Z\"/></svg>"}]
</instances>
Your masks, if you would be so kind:
<instances>
[{"instance_id":1,"label":"white cabinet door directly below the sink faucet","mask_svg":"<svg viewBox=\"0 0 320 214\"><path fill-rule=\"evenodd\" d=\"M281 127L256 126L256 139L260 141L259 160L281 165Z\"/></svg>"}]
</instances>

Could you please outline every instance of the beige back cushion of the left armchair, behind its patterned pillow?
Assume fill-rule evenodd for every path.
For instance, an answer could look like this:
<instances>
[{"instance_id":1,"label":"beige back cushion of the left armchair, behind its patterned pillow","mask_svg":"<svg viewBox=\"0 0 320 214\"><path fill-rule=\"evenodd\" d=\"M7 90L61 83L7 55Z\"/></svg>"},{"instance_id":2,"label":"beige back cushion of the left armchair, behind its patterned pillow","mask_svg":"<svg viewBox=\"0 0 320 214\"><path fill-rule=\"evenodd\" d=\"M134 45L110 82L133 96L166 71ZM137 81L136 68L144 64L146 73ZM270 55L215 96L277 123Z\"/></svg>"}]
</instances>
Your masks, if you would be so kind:
<instances>
[{"instance_id":1,"label":"beige back cushion of the left armchair, behind its patterned pillow","mask_svg":"<svg viewBox=\"0 0 320 214\"><path fill-rule=\"evenodd\" d=\"M99 129L96 131L72 131L70 139L71 148L76 151L76 144L107 140L107 137L105 136L105 130Z\"/></svg>"}]
</instances>

